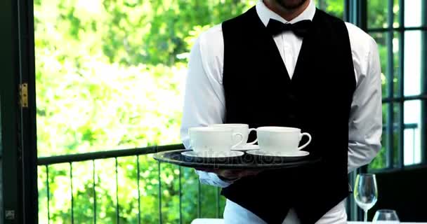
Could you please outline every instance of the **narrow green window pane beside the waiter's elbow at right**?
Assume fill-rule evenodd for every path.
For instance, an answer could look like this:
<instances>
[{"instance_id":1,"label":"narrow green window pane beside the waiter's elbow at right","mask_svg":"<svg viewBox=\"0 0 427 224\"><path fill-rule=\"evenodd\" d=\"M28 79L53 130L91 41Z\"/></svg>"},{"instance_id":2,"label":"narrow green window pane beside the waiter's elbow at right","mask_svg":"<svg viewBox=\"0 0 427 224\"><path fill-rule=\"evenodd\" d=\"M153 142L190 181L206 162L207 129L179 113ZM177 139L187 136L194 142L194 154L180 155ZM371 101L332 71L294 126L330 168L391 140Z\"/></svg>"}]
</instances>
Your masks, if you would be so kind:
<instances>
[{"instance_id":1,"label":"narrow green window pane beside the waiter's elbow at right","mask_svg":"<svg viewBox=\"0 0 427 224\"><path fill-rule=\"evenodd\" d=\"M369 164L369 169L382 169L387 167L387 152L388 148L390 148L388 146L387 129L391 128L389 125L387 125L389 106L390 104L383 104L383 134L381 136L381 151Z\"/></svg>"}]
</instances>

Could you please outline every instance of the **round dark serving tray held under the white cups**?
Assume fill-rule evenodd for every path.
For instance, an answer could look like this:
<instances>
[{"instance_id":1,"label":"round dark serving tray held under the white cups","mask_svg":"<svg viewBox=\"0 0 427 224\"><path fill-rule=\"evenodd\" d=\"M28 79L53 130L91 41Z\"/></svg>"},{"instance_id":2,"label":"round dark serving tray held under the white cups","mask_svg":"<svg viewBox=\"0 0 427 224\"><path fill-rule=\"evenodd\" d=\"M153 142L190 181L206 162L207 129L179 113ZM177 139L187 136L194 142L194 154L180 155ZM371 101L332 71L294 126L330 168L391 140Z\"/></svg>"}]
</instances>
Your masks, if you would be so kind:
<instances>
[{"instance_id":1,"label":"round dark serving tray held under the white cups","mask_svg":"<svg viewBox=\"0 0 427 224\"><path fill-rule=\"evenodd\" d=\"M190 150L165 151L155 153L153 157L159 162L201 169L284 169L310 165L320 161L320 158L311 155L303 158L283 158L248 153L233 158L192 158L181 154L185 151Z\"/></svg>"}]
</instances>

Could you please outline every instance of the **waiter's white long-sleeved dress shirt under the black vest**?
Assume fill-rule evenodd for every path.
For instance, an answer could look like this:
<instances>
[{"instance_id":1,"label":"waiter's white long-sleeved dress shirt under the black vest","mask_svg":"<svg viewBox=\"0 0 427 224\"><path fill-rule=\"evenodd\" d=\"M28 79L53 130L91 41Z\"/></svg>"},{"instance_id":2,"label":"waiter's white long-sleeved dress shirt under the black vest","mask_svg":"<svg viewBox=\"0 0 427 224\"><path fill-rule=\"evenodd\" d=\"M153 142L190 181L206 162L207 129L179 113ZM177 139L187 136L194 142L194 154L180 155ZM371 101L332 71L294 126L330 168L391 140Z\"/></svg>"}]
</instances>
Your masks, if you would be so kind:
<instances>
[{"instance_id":1,"label":"waiter's white long-sleeved dress shirt under the black vest","mask_svg":"<svg viewBox=\"0 0 427 224\"><path fill-rule=\"evenodd\" d=\"M256 3L256 12L265 26L270 18L284 23L312 20L316 8L314 1L310 1L308 8L291 21L284 20L280 15L272 12L262 0ZM350 173L357 167L371 162L381 148L381 68L374 39L355 25L346 22L346 27L350 37L357 83L348 122L348 172ZM274 36L274 40L292 78L303 39L289 31ZM190 148L188 128L224 122L223 54L221 25L204 31L192 47L180 130L185 148ZM227 187L232 184L230 181L219 179L213 173L199 171L197 173L199 180L208 185Z\"/></svg>"}]
</instances>

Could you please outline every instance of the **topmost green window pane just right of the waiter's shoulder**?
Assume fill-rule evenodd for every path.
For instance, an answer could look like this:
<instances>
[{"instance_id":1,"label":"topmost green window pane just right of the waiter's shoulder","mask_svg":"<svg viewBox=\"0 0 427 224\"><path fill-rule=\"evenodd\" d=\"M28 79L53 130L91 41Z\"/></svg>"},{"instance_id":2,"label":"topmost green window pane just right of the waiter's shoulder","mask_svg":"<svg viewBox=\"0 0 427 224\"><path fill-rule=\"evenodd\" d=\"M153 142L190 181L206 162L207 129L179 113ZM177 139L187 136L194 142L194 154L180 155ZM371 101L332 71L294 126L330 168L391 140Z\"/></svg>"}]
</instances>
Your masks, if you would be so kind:
<instances>
[{"instance_id":1,"label":"topmost green window pane just right of the waiter's shoulder","mask_svg":"<svg viewBox=\"0 0 427 224\"><path fill-rule=\"evenodd\" d=\"M367 25L368 28L388 27L388 1L369 0L367 1Z\"/></svg>"}]
</instances>

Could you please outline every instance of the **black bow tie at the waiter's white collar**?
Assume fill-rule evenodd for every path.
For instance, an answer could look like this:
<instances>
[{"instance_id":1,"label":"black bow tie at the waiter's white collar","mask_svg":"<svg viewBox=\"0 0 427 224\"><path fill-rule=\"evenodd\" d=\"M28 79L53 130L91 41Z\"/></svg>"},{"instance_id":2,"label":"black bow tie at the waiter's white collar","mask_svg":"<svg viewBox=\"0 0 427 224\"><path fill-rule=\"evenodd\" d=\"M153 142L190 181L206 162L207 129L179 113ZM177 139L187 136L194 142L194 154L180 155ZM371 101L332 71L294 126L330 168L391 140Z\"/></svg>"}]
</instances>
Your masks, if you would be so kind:
<instances>
[{"instance_id":1,"label":"black bow tie at the waiter's white collar","mask_svg":"<svg viewBox=\"0 0 427 224\"><path fill-rule=\"evenodd\" d=\"M290 24L270 19L270 21L268 21L267 29L272 36L281 34L284 31L293 31L296 36L304 37L308 34L311 25L311 20L301 20L294 24Z\"/></svg>"}]
</instances>

